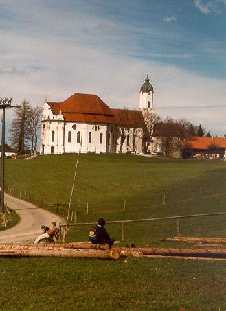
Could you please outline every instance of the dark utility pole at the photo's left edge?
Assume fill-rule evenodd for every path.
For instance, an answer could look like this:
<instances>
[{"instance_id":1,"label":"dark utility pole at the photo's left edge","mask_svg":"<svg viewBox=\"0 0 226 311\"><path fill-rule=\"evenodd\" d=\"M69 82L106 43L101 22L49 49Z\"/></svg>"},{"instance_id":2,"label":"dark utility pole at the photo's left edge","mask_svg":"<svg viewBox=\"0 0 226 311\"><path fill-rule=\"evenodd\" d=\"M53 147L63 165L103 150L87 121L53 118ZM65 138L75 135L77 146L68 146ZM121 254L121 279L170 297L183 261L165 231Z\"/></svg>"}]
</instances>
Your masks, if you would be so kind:
<instances>
[{"instance_id":1,"label":"dark utility pole at the photo's left edge","mask_svg":"<svg viewBox=\"0 0 226 311\"><path fill-rule=\"evenodd\" d=\"M2 110L1 118L1 209L0 213L5 210L4 191L5 191L5 109L18 106L11 106L12 98L0 98L0 109Z\"/></svg>"}]
</instances>

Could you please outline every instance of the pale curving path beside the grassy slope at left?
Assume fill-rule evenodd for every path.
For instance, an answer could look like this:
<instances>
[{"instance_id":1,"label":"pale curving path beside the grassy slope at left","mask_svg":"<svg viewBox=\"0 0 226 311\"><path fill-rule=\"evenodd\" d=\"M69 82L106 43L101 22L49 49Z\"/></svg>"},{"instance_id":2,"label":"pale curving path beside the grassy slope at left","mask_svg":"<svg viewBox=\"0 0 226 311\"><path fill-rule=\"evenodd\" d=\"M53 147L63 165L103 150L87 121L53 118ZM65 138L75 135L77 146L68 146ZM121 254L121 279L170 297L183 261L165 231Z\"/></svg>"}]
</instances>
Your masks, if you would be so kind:
<instances>
[{"instance_id":1,"label":"pale curving path beside the grassy slope at left","mask_svg":"<svg viewBox=\"0 0 226 311\"><path fill-rule=\"evenodd\" d=\"M0 243L2 242L32 242L42 233L40 227L42 224L50 226L52 221L58 224L64 222L63 218L55 214L36 207L32 203L25 202L19 198L14 198L5 194L5 203L19 214L21 221L5 231L0 231Z\"/></svg>"}]
</instances>

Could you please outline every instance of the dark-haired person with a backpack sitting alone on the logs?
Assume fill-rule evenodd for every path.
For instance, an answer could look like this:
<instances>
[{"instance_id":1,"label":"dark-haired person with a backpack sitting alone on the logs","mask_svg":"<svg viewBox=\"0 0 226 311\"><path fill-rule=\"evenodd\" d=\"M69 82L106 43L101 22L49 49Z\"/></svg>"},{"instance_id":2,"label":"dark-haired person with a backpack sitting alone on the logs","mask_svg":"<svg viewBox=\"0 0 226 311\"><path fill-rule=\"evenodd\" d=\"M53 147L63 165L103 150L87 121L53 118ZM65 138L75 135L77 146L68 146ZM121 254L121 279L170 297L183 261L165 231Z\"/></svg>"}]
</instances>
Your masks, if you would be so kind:
<instances>
[{"instance_id":1,"label":"dark-haired person with a backpack sitting alone on the logs","mask_svg":"<svg viewBox=\"0 0 226 311\"><path fill-rule=\"evenodd\" d=\"M105 220L100 218L98 223L89 233L89 240L92 244L108 244L109 248L113 245L115 240L109 237L109 234L106 232L104 228Z\"/></svg>"}]
</instances>

